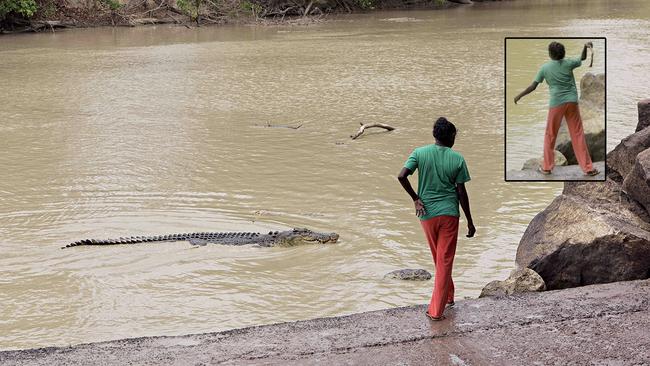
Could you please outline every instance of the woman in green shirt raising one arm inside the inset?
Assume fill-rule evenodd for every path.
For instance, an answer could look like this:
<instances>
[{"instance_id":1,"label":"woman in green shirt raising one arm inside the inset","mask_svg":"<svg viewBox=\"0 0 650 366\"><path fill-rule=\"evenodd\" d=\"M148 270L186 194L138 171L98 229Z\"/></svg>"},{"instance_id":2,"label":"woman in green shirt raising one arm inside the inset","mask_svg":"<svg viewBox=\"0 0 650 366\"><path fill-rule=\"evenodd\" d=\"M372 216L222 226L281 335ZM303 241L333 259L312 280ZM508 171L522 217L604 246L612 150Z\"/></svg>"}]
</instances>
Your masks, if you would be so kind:
<instances>
[{"instance_id":1,"label":"woman in green shirt raising one arm inside the inset","mask_svg":"<svg viewBox=\"0 0 650 366\"><path fill-rule=\"evenodd\" d=\"M578 108L578 89L573 76L573 69L582 65L582 61L587 59L587 48L592 47L593 44L587 42L582 49L581 57L565 59L564 45L559 42L551 42L548 45L551 61L542 65L533 83L515 97L515 104L517 104L519 99L535 90L542 81L546 80L548 84L550 98L544 135L544 160L540 168L542 174L551 174L555 166L555 140L562 118L567 121L571 145L585 175L593 176L599 173L597 169L594 169L589 155Z\"/></svg>"}]
</instances>

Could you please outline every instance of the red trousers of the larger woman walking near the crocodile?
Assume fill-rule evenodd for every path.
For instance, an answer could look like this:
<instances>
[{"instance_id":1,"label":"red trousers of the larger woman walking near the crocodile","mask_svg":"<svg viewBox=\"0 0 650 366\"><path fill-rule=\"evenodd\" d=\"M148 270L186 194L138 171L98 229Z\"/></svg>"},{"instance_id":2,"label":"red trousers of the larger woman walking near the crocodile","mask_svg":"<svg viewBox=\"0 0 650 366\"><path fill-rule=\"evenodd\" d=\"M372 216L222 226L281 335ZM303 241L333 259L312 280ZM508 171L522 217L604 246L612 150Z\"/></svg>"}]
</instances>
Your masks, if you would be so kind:
<instances>
[{"instance_id":1,"label":"red trousers of the larger woman walking near the crocodile","mask_svg":"<svg viewBox=\"0 0 650 366\"><path fill-rule=\"evenodd\" d=\"M458 217L436 216L420 221L420 224L429 242L433 264L436 267L433 294L427 311L432 316L439 317L445 310L445 305L454 301L451 267L454 264L458 240Z\"/></svg>"}]
</instances>

